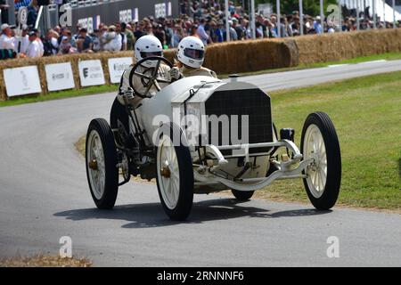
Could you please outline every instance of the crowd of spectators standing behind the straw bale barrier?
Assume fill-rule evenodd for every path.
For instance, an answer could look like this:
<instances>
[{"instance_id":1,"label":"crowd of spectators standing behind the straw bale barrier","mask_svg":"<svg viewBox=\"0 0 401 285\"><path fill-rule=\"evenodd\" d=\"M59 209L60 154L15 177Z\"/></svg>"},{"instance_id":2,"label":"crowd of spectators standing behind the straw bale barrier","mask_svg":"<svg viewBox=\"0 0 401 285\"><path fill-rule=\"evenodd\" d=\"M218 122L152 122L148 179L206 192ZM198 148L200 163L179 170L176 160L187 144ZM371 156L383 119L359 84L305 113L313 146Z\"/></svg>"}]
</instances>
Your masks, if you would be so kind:
<instances>
[{"instance_id":1,"label":"crowd of spectators standing behind the straw bale barrier","mask_svg":"<svg viewBox=\"0 0 401 285\"><path fill-rule=\"evenodd\" d=\"M0 0L2 1L2 0ZM68 53L99 53L132 50L135 40L143 35L154 35L160 39L164 48L174 48L186 36L200 37L205 45L222 43L226 39L225 7L218 0L200 0L180 2L181 16L172 18L146 17L139 21L117 22L110 25L101 23L98 28L88 33L85 27L77 26L75 30L56 26L45 34L31 27L37 13L37 0L16 0L15 4L29 6L28 25L16 30L7 23L1 26L0 51L12 50L20 57L40 57ZM229 2L229 34L233 41L252 37L250 15L242 6ZM373 28L369 15L361 13L360 29ZM272 13L268 16L256 15L256 37L296 37L301 34L299 12L282 14L280 19ZM335 25L320 19L319 16L303 15L303 34L333 33L356 30L356 15L344 14L342 25ZM30 25L29 25L30 24ZM392 23L378 20L378 28L389 28ZM399 27L399 23L398 23ZM11 55L10 55L11 56ZM7 54L0 53L0 58Z\"/></svg>"}]
</instances>

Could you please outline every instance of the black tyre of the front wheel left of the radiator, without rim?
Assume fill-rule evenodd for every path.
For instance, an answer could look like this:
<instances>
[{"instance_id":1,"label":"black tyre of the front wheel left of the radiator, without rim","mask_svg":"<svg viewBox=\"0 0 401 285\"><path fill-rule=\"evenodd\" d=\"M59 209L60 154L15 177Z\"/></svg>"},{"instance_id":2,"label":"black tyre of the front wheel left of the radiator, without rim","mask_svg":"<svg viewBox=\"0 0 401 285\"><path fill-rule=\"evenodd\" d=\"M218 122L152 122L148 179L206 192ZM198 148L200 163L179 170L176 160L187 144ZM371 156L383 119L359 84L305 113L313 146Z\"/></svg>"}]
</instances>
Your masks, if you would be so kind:
<instances>
[{"instance_id":1,"label":"black tyre of the front wheel left of the radiator, without rim","mask_svg":"<svg viewBox=\"0 0 401 285\"><path fill-rule=\"evenodd\" d=\"M165 134L168 138L173 141L174 134L182 134L181 130L174 125L170 125L164 128L165 132L160 134ZM178 133L174 133L175 130ZM161 138L161 135L160 135ZM176 153L177 165L178 165L178 173L179 173L179 192L178 199L176 202L176 206L174 208L169 208L167 202L163 198L162 194L162 182L160 182L161 174L159 169L159 161L157 162L157 185L158 192L161 201L161 205L168 215L168 217L173 221L184 221L191 213L192 203L193 203L193 170L192 170L192 157L191 152L187 146L184 146L180 143L179 146L174 146L174 150ZM157 148L156 159L159 160L159 151L160 147Z\"/></svg>"}]
</instances>

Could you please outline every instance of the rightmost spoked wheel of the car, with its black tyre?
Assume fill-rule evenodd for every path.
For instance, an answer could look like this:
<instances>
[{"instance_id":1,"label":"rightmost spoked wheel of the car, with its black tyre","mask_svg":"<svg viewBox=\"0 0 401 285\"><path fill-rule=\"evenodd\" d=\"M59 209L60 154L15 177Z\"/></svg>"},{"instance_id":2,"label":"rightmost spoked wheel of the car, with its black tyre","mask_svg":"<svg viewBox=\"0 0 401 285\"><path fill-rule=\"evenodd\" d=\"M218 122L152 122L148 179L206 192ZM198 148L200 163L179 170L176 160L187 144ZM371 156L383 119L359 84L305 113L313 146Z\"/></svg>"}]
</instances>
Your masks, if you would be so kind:
<instances>
[{"instance_id":1,"label":"rightmost spoked wheel of the car, with its black tyre","mask_svg":"<svg viewBox=\"0 0 401 285\"><path fill-rule=\"evenodd\" d=\"M341 155L339 138L327 114L315 112L307 117L300 148L304 159L315 159L305 171L307 196L317 209L333 207L340 192Z\"/></svg>"}]
</instances>

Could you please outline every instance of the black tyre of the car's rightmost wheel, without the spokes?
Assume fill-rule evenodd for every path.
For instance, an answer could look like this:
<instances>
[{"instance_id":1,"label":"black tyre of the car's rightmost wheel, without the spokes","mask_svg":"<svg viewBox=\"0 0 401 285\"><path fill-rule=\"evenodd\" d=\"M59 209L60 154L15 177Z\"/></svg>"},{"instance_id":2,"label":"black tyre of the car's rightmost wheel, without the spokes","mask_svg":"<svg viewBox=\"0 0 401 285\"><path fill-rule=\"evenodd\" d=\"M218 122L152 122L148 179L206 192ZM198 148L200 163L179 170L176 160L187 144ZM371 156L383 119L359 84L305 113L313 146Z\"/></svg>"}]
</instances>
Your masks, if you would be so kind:
<instances>
[{"instance_id":1,"label":"black tyre of the car's rightmost wheel, without the spokes","mask_svg":"<svg viewBox=\"0 0 401 285\"><path fill-rule=\"evenodd\" d=\"M315 112L307 116L304 127L302 129L301 145L300 149L304 153L305 146L305 135L307 128L311 125L318 127L323 137L324 148L327 158L326 168L326 182L323 188L323 194L320 197L315 197L313 191L309 188L307 178L304 178L304 185L307 191L307 196L314 207L318 210L328 210L332 208L340 193L341 184L341 153L340 153L340 142L337 136L337 132L331 119L326 113ZM312 179L312 178L311 178ZM311 183L311 180L309 180Z\"/></svg>"}]
</instances>

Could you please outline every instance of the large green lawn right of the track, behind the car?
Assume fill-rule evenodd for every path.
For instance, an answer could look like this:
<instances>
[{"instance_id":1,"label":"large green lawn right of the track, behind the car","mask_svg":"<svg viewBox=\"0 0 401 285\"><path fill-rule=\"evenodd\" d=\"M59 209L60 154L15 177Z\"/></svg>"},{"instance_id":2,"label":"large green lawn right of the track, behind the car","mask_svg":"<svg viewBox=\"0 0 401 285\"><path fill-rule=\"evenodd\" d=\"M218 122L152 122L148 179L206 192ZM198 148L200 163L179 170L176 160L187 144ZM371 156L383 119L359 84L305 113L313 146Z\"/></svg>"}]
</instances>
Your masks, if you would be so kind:
<instances>
[{"instance_id":1,"label":"large green lawn right of the track, behind the car","mask_svg":"<svg viewBox=\"0 0 401 285\"><path fill-rule=\"evenodd\" d=\"M299 143L307 115L329 114L340 138L339 204L401 210L401 72L274 92L274 123L293 127ZM307 201L303 183L280 181L266 199Z\"/></svg>"}]
</instances>

